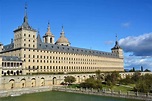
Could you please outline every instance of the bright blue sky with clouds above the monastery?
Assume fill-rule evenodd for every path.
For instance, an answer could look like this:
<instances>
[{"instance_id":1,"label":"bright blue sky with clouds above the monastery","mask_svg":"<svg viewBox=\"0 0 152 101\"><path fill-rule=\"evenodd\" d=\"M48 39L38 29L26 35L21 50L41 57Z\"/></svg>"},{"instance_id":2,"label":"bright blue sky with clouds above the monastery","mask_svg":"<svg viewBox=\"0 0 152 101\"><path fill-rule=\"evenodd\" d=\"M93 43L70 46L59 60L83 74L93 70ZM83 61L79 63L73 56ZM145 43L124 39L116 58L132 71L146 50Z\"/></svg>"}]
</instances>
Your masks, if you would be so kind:
<instances>
[{"instance_id":1,"label":"bright blue sky with clouds above the monastery","mask_svg":"<svg viewBox=\"0 0 152 101\"><path fill-rule=\"evenodd\" d=\"M111 52L117 33L124 49L125 68L152 70L152 0L0 0L0 42L14 37L28 21L41 37L50 22L55 40L64 26L72 46Z\"/></svg>"}]
</instances>

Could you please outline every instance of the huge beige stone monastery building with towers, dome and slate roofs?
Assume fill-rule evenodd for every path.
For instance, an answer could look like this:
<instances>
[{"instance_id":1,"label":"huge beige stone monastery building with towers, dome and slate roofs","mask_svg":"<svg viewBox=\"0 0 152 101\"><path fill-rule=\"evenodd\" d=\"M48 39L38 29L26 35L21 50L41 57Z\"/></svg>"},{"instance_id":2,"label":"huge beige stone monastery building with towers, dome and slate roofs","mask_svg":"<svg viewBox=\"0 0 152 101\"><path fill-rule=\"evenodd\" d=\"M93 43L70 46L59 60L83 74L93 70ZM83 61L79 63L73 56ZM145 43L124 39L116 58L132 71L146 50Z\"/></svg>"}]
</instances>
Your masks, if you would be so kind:
<instances>
[{"instance_id":1,"label":"huge beige stone monastery building with towers, dome and slate roofs","mask_svg":"<svg viewBox=\"0 0 152 101\"><path fill-rule=\"evenodd\" d=\"M63 27L55 42L48 23L42 41L29 25L26 10L22 25L14 30L14 40L8 45L0 43L1 76L124 71L123 50L117 40L111 52L72 47Z\"/></svg>"}]
</instances>

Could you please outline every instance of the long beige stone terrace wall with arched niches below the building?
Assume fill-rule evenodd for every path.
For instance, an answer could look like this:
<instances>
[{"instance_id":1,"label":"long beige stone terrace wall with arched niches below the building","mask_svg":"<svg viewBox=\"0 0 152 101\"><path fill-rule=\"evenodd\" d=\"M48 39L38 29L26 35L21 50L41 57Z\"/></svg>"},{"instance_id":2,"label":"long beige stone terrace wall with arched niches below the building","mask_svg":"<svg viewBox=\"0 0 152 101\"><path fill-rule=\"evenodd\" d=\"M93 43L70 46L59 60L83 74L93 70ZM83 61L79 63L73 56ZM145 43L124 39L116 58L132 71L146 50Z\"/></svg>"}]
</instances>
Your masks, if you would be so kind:
<instances>
[{"instance_id":1,"label":"long beige stone terrace wall with arched niches below the building","mask_svg":"<svg viewBox=\"0 0 152 101\"><path fill-rule=\"evenodd\" d=\"M80 83L95 74L31 75L1 77L0 90L60 85L66 76L74 76Z\"/></svg>"}]
</instances>

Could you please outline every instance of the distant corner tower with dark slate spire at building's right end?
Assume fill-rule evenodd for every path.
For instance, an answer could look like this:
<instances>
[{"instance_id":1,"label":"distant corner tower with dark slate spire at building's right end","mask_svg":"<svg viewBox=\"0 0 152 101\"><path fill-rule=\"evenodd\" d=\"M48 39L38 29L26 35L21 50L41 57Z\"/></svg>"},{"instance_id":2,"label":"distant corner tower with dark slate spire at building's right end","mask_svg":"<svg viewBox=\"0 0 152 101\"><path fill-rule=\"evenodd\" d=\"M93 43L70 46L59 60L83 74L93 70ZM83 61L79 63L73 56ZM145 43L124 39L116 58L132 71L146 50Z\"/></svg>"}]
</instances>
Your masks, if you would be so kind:
<instances>
[{"instance_id":1,"label":"distant corner tower with dark slate spire at building's right end","mask_svg":"<svg viewBox=\"0 0 152 101\"><path fill-rule=\"evenodd\" d=\"M119 46L117 35L116 35L116 42L115 46L111 49L112 53L115 53L119 56L119 58L123 59L123 49Z\"/></svg>"}]
</instances>

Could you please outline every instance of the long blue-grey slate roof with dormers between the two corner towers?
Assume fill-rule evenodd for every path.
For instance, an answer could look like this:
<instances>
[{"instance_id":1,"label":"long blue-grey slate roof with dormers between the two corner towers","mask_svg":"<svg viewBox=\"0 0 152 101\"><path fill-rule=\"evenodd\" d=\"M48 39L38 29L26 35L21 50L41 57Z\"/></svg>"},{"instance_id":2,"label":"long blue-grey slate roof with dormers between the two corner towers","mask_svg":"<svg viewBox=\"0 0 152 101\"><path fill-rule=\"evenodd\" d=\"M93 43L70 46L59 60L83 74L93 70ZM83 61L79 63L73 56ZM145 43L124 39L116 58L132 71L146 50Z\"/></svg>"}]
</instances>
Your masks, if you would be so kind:
<instances>
[{"instance_id":1,"label":"long blue-grey slate roof with dormers between the two corner towers","mask_svg":"<svg viewBox=\"0 0 152 101\"><path fill-rule=\"evenodd\" d=\"M61 46L61 45L49 44L49 43L43 43L43 42L37 44L37 49L66 52L66 53L73 53L73 54L84 54L84 55L95 55L95 56L118 58L118 55L114 53L110 53L110 52L103 52L103 51L98 51L98 50L77 48L77 47L71 47L71 46Z\"/></svg>"}]
</instances>

